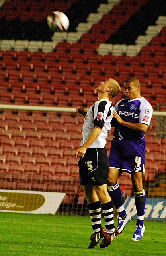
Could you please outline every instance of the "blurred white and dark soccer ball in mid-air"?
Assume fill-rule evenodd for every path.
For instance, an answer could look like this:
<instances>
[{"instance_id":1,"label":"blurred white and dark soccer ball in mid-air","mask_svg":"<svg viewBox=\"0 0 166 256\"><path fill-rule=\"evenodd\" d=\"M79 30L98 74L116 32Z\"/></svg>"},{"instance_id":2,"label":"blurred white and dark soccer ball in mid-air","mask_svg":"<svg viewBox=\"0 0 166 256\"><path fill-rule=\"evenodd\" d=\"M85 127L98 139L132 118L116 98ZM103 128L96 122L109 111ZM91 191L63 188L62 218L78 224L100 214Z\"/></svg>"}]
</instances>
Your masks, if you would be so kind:
<instances>
[{"instance_id":1,"label":"blurred white and dark soccer ball in mid-air","mask_svg":"<svg viewBox=\"0 0 166 256\"><path fill-rule=\"evenodd\" d=\"M69 27L69 20L63 12L54 11L47 17L47 24L53 31L65 31Z\"/></svg>"}]
</instances>

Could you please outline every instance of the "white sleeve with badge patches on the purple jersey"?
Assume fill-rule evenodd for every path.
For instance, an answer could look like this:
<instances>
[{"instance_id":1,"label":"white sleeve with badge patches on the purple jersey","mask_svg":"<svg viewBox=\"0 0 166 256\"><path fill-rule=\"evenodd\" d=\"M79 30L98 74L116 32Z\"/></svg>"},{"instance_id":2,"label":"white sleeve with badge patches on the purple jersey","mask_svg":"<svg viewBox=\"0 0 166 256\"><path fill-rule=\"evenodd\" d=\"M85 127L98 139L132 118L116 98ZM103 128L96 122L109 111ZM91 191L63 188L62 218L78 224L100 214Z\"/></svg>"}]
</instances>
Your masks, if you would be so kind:
<instances>
[{"instance_id":1,"label":"white sleeve with badge patches on the purple jersey","mask_svg":"<svg viewBox=\"0 0 166 256\"><path fill-rule=\"evenodd\" d=\"M147 100L141 101L139 112L139 123L149 126L152 119L153 108Z\"/></svg>"}]
</instances>

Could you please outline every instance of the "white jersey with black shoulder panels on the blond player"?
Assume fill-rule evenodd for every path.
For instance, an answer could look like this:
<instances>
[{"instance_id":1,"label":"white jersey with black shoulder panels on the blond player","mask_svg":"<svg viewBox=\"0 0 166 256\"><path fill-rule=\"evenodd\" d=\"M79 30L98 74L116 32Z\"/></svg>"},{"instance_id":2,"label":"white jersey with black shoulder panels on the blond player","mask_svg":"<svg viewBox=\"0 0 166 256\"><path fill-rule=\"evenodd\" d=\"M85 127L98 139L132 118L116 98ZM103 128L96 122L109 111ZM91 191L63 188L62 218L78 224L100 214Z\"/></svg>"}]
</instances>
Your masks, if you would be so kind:
<instances>
[{"instance_id":1,"label":"white jersey with black shoulder panels on the blond player","mask_svg":"<svg viewBox=\"0 0 166 256\"><path fill-rule=\"evenodd\" d=\"M109 100L98 100L92 105L85 116L84 124L82 126L82 140L81 145L89 138L95 126L102 128L102 132L89 148L104 148L108 131L111 129L111 120L113 114L112 102Z\"/></svg>"}]
</instances>

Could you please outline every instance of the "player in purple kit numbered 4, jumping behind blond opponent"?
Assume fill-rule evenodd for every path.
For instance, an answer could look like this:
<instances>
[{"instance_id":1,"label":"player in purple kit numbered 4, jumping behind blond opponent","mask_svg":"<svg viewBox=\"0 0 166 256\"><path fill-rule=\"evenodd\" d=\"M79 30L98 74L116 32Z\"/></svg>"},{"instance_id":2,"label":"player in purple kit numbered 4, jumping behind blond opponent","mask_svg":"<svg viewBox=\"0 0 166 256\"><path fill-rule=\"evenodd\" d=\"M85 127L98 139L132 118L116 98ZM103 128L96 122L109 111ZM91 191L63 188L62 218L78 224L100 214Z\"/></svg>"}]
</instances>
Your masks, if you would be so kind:
<instances>
[{"instance_id":1,"label":"player in purple kit numbered 4, jumping behind blond opponent","mask_svg":"<svg viewBox=\"0 0 166 256\"><path fill-rule=\"evenodd\" d=\"M123 206L122 194L117 179L122 172L131 174L131 182L137 209L137 223L133 242L143 237L146 194L143 189L142 176L145 173L145 132L152 118L152 106L140 93L138 78L131 77L124 83L125 99L115 105L113 120L115 122L114 139L109 155L109 175L107 189L118 212L117 234L120 234L127 222L131 220ZM111 124L112 125L112 124ZM113 126L113 125L112 125Z\"/></svg>"}]
</instances>

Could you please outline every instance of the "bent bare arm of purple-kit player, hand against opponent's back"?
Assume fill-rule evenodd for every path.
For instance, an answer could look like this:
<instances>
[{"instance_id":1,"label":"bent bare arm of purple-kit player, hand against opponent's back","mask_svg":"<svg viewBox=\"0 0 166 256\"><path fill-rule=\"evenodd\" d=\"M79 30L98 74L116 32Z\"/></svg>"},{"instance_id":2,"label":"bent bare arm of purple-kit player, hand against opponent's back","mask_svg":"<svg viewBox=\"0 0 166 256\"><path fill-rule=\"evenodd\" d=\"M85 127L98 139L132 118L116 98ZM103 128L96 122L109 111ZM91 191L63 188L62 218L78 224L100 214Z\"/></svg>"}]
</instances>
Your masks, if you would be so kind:
<instances>
[{"instance_id":1,"label":"bent bare arm of purple-kit player, hand against opponent's back","mask_svg":"<svg viewBox=\"0 0 166 256\"><path fill-rule=\"evenodd\" d=\"M142 123L130 123L130 122L126 122L124 121L118 114L116 111L113 111L113 117L116 118L117 122L119 124L122 124L124 126L126 126L127 128L131 128L133 130L138 130L141 132L146 132L148 129L148 126L146 124L142 124Z\"/></svg>"}]
</instances>

